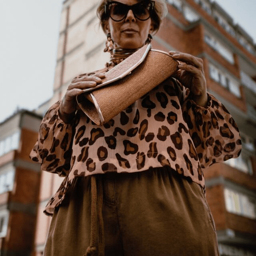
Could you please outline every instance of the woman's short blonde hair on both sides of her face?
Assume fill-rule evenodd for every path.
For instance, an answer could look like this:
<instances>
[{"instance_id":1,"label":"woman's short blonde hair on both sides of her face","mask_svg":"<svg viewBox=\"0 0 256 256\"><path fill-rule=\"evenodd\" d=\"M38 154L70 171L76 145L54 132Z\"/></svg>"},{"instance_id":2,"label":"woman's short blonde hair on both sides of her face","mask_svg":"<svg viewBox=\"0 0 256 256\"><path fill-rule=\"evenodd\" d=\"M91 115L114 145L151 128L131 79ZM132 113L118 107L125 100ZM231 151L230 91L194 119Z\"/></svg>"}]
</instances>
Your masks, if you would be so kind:
<instances>
[{"instance_id":1,"label":"woman's short blonde hair on both sides of her face","mask_svg":"<svg viewBox=\"0 0 256 256\"><path fill-rule=\"evenodd\" d=\"M105 2L107 1L108 0L100 0L99 6L97 8L97 15L98 15L98 18L100 19L100 25L105 34L106 34L106 30L104 28L104 24L109 18L108 14L105 13ZM154 33L156 33L160 27L160 24L162 23L162 20L167 15L168 10L167 10L165 0L154 0L154 2L155 2L155 6L154 6L154 11L151 15L151 19L153 22Z\"/></svg>"}]
</instances>

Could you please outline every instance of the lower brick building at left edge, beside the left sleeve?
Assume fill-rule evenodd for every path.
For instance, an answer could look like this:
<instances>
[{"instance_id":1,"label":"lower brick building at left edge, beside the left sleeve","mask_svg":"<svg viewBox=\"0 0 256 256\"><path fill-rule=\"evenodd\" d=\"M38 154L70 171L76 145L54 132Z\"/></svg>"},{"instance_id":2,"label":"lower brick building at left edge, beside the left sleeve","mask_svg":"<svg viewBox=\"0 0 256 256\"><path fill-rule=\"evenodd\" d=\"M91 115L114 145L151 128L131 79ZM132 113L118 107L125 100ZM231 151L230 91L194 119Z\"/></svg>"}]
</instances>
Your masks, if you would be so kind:
<instances>
[{"instance_id":1,"label":"lower brick building at left edge, beside the left sleeve","mask_svg":"<svg viewBox=\"0 0 256 256\"><path fill-rule=\"evenodd\" d=\"M18 111L0 124L0 255L34 251L40 165L29 158L41 116Z\"/></svg>"}]
</instances>

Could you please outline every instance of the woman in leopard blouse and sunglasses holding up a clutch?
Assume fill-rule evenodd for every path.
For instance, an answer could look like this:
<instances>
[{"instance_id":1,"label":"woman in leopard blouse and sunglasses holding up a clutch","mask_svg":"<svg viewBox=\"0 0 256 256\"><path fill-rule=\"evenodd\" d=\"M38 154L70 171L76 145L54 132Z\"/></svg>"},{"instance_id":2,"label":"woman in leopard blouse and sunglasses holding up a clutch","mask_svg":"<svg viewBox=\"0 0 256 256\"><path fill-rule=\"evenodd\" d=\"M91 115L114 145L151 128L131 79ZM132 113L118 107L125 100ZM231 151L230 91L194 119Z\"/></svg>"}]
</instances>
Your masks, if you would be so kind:
<instances>
[{"instance_id":1,"label":"woman in leopard blouse and sunglasses holding up a clutch","mask_svg":"<svg viewBox=\"0 0 256 256\"><path fill-rule=\"evenodd\" d=\"M46 256L218 255L202 168L237 157L241 140L206 91L202 60L170 52L182 63L174 77L104 126L76 105L84 88L151 41L165 13L164 0L100 1L110 62L72 80L30 154L42 170L65 177L45 208L52 216Z\"/></svg>"}]
</instances>

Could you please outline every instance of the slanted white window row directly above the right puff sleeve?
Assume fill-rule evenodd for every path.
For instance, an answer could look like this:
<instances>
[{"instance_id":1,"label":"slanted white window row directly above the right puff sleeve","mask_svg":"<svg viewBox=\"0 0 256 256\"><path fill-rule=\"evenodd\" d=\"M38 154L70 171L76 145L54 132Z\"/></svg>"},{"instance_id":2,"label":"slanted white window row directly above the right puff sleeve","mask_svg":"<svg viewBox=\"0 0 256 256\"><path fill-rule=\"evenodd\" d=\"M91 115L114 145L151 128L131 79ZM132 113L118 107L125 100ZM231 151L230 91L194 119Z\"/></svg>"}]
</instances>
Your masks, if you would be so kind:
<instances>
[{"instance_id":1,"label":"slanted white window row directly above the right puff sleeve","mask_svg":"<svg viewBox=\"0 0 256 256\"><path fill-rule=\"evenodd\" d=\"M216 66L209 64L210 78L221 84L236 97L241 98L240 85Z\"/></svg>"}]
</instances>

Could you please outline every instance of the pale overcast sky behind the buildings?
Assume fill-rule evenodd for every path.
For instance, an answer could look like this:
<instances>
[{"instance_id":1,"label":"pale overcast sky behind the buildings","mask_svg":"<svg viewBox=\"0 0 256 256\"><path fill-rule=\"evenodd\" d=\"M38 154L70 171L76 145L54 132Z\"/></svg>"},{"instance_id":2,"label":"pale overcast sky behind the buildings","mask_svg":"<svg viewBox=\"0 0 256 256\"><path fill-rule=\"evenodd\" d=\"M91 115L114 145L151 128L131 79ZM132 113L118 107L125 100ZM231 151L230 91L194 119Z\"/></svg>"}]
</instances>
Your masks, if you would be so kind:
<instances>
[{"instance_id":1,"label":"pale overcast sky behind the buildings","mask_svg":"<svg viewBox=\"0 0 256 256\"><path fill-rule=\"evenodd\" d=\"M62 2L0 1L0 122L52 96ZM256 43L256 0L216 2Z\"/></svg>"}]
</instances>

